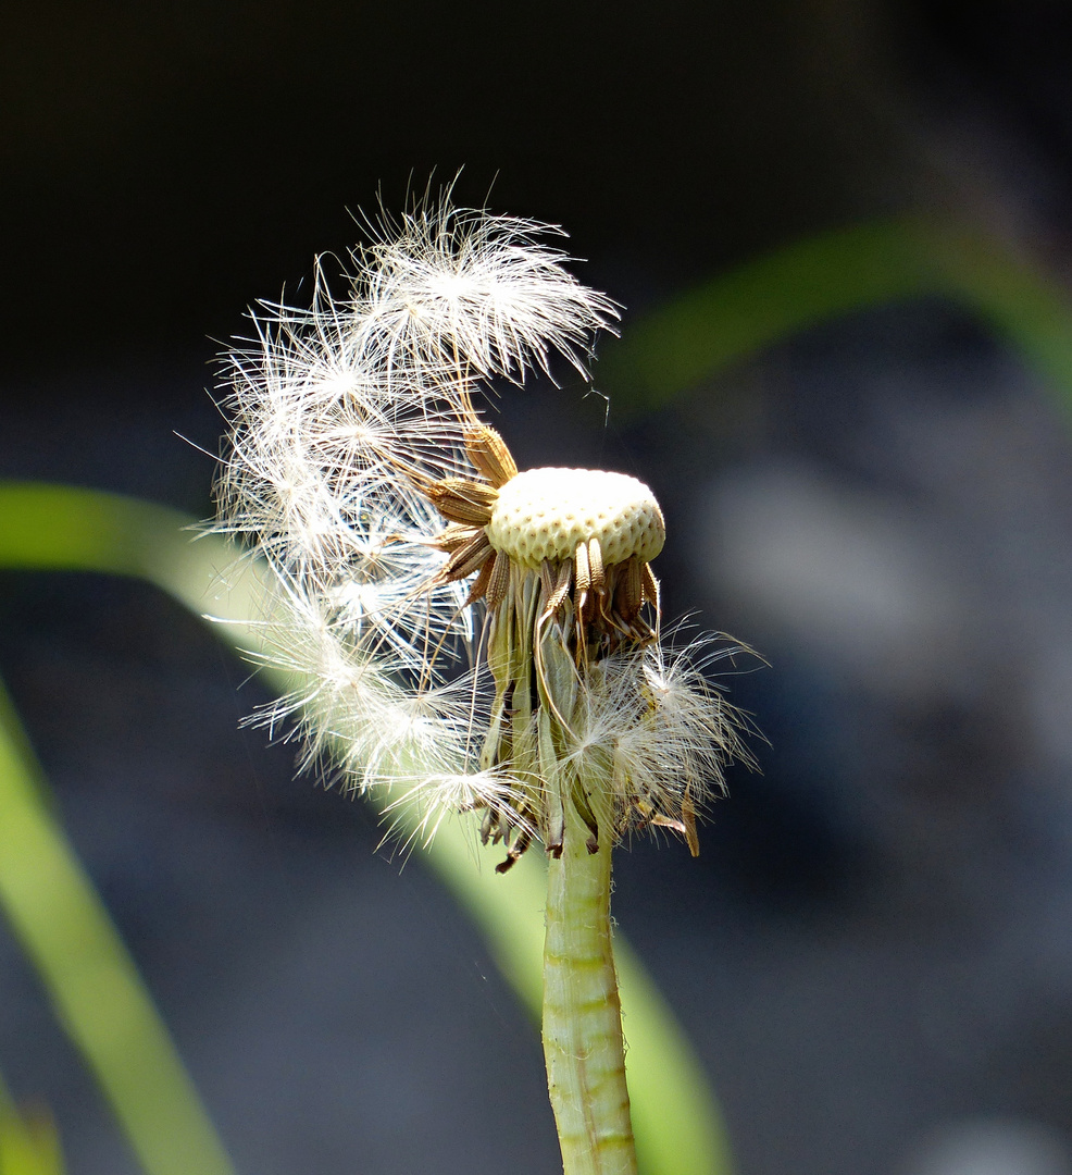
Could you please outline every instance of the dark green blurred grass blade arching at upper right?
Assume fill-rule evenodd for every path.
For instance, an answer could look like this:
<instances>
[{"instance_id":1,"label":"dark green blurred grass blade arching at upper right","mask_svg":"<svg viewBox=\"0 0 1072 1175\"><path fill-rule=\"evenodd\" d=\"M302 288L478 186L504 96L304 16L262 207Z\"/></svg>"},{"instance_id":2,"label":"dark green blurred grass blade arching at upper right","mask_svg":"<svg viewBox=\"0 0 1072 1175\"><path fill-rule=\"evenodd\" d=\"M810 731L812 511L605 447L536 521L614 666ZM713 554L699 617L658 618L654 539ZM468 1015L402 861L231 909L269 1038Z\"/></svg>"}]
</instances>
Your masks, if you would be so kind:
<instances>
[{"instance_id":1,"label":"dark green blurred grass blade arching at upper right","mask_svg":"<svg viewBox=\"0 0 1072 1175\"><path fill-rule=\"evenodd\" d=\"M1068 294L993 235L910 217L793 242L683 294L605 347L600 380L650 408L817 323L926 296L975 311L1072 408Z\"/></svg>"}]
</instances>

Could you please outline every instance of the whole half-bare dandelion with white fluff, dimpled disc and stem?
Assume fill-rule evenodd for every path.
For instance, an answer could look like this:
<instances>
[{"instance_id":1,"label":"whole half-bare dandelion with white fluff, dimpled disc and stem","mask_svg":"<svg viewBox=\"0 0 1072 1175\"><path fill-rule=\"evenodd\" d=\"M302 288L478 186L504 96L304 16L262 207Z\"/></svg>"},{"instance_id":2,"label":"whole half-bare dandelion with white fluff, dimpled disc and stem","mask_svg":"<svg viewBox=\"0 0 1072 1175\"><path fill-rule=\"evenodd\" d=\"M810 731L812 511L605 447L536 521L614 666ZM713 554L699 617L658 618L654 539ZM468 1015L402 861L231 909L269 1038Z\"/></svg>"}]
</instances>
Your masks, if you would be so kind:
<instances>
[{"instance_id":1,"label":"whole half-bare dandelion with white fluff, dimpled disc and stem","mask_svg":"<svg viewBox=\"0 0 1072 1175\"><path fill-rule=\"evenodd\" d=\"M303 764L379 797L409 839L473 813L506 872L550 859L544 1040L567 1175L635 1171L611 953L611 850L645 827L699 851L696 818L746 757L704 677L666 647L663 516L625 474L519 471L481 417L491 381L554 356L586 371L614 304L535 221L416 204L318 267L308 310L261 304L227 357L217 529L278 585L269 707Z\"/></svg>"}]
</instances>

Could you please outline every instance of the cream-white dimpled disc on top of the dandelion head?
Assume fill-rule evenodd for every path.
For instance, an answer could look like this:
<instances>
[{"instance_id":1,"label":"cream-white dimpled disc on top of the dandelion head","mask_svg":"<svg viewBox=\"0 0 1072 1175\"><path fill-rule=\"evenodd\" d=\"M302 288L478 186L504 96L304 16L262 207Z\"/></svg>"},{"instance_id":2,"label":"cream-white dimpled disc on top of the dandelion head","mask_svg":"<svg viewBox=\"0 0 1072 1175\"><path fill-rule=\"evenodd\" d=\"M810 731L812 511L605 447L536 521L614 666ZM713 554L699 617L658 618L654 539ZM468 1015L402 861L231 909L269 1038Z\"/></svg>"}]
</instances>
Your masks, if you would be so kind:
<instances>
[{"instance_id":1,"label":"cream-white dimpled disc on top of the dandelion head","mask_svg":"<svg viewBox=\"0 0 1072 1175\"><path fill-rule=\"evenodd\" d=\"M499 490L486 529L497 551L527 568L572 559L592 538L605 566L631 555L648 563L666 540L662 511L643 482L595 469L518 474Z\"/></svg>"}]
</instances>

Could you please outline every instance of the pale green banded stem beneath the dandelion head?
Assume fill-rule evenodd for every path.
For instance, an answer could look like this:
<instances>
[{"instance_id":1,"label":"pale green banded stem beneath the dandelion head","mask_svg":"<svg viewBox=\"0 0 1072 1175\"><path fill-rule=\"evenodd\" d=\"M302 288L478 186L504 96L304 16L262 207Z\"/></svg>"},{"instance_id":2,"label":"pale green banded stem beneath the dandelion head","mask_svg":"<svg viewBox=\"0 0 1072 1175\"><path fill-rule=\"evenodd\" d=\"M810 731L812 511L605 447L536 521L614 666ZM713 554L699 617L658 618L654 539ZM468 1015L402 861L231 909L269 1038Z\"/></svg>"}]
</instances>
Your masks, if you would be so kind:
<instances>
[{"instance_id":1,"label":"pale green banded stem beneath the dandelion head","mask_svg":"<svg viewBox=\"0 0 1072 1175\"><path fill-rule=\"evenodd\" d=\"M547 868L544 1056L564 1175L635 1175L621 1002L611 944L612 837L568 797L562 854ZM609 831L609 824L600 825Z\"/></svg>"}]
</instances>

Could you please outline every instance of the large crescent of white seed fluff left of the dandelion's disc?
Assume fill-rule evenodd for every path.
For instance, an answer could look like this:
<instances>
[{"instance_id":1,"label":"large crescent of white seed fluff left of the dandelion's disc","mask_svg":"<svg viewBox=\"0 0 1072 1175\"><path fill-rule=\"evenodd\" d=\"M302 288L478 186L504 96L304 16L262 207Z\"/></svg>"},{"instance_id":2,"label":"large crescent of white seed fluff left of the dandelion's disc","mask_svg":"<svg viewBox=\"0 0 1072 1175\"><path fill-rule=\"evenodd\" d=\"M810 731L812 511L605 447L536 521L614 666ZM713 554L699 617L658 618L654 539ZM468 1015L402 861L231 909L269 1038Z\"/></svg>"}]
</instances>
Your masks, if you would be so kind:
<instances>
[{"instance_id":1,"label":"large crescent of white seed fluff left of the dandelion's disc","mask_svg":"<svg viewBox=\"0 0 1072 1175\"><path fill-rule=\"evenodd\" d=\"M215 529L275 573L258 656L294 682L259 720L296 723L304 765L378 791L425 832L476 808L534 834L510 764L479 763L486 670L457 676L479 615L464 606L470 585L440 575L426 488L480 477L474 381L520 381L555 354L582 371L593 333L618 316L548 233L561 235L445 197L385 216L352 255L348 295L318 262L311 307L259 303L224 357Z\"/></svg>"}]
</instances>

